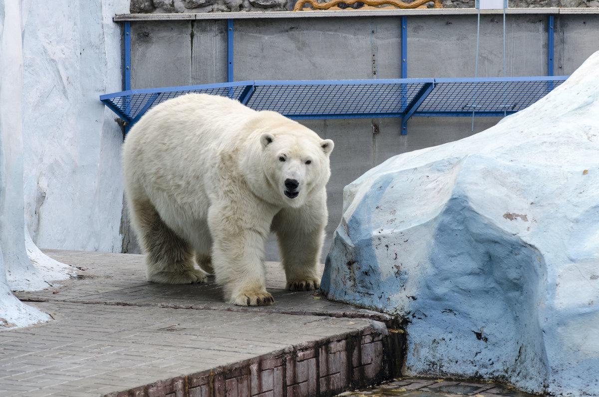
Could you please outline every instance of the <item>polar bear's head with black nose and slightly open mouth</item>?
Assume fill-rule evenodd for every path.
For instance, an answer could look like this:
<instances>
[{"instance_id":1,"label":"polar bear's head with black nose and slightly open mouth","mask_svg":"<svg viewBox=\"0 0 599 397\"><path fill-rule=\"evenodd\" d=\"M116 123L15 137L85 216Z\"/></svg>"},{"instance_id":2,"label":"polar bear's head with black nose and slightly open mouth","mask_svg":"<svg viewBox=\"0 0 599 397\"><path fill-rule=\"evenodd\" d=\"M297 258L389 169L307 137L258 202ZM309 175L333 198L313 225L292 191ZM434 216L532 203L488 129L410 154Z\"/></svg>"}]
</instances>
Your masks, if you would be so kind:
<instances>
[{"instance_id":1,"label":"polar bear's head with black nose and slightly open mouth","mask_svg":"<svg viewBox=\"0 0 599 397\"><path fill-rule=\"evenodd\" d=\"M312 191L325 187L331 175L329 155L334 143L308 128L273 131L260 136L262 169L283 202L299 207Z\"/></svg>"}]
</instances>

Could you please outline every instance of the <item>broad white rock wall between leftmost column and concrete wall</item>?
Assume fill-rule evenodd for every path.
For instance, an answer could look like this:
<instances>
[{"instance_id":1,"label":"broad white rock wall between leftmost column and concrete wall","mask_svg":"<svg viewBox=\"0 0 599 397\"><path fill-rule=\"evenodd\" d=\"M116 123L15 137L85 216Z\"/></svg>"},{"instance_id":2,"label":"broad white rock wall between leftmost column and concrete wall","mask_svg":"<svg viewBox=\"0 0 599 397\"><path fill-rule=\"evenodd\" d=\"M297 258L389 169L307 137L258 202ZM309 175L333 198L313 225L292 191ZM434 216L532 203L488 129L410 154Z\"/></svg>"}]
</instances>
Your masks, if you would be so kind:
<instances>
[{"instance_id":1,"label":"broad white rock wall between leftmost column and concrete wall","mask_svg":"<svg viewBox=\"0 0 599 397\"><path fill-rule=\"evenodd\" d=\"M128 0L20 0L25 222L40 248L120 252L123 206L114 113Z\"/></svg>"}]
</instances>

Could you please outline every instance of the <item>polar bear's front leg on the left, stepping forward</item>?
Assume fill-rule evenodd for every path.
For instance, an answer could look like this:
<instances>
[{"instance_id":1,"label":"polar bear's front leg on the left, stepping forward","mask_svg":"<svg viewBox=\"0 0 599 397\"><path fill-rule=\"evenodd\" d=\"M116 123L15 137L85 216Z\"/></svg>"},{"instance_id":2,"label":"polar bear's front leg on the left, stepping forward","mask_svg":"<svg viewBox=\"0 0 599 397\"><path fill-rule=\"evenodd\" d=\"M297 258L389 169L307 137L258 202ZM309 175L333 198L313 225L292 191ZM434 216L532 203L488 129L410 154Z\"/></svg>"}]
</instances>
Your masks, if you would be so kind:
<instances>
[{"instance_id":1,"label":"polar bear's front leg on the left, stepping forward","mask_svg":"<svg viewBox=\"0 0 599 397\"><path fill-rule=\"evenodd\" d=\"M267 215L249 219L253 211L231 205L212 206L208 227L213 238L212 267L216 282L223 286L225 300L239 306L265 306L274 303L266 290L266 240L270 233ZM258 218L257 216L255 216Z\"/></svg>"}]
</instances>

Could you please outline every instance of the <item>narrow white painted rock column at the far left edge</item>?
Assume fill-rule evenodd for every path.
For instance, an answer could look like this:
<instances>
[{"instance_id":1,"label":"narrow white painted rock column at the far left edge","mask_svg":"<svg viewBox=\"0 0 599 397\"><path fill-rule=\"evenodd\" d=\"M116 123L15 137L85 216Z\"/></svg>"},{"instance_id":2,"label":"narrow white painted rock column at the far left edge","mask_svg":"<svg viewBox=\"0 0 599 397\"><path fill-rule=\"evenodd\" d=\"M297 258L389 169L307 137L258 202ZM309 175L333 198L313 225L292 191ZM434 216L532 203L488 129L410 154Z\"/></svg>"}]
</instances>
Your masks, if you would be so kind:
<instances>
[{"instance_id":1,"label":"narrow white painted rock column at the far left edge","mask_svg":"<svg viewBox=\"0 0 599 397\"><path fill-rule=\"evenodd\" d=\"M8 278L18 273L23 284L47 286L26 253L20 38L19 4L0 3L0 330L50 319L48 314L20 302L8 284Z\"/></svg>"}]
</instances>

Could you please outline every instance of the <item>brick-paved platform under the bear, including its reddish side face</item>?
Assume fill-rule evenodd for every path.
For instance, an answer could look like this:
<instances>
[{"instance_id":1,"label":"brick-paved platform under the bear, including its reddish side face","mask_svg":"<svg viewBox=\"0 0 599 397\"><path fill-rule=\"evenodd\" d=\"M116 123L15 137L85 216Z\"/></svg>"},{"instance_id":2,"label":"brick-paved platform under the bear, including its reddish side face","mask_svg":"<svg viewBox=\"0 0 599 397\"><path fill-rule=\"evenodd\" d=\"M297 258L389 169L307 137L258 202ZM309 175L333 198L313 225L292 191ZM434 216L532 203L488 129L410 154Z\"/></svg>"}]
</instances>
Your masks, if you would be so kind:
<instances>
[{"instance_id":1,"label":"brick-paved platform under the bear, including its reddish side face","mask_svg":"<svg viewBox=\"0 0 599 397\"><path fill-rule=\"evenodd\" d=\"M401 350L391 317L286 291L278 263L267 263L275 305L241 308L222 302L213 279L147 282L141 255L47 254L74 276L17 293L54 320L0 332L2 397L331 395L398 375L385 359ZM388 389L404 395L420 383L448 395L395 382ZM510 395L495 389L480 395ZM364 393L373 390L386 389Z\"/></svg>"}]
</instances>

